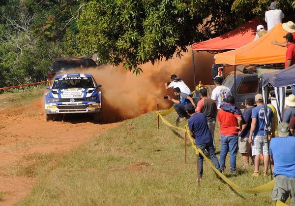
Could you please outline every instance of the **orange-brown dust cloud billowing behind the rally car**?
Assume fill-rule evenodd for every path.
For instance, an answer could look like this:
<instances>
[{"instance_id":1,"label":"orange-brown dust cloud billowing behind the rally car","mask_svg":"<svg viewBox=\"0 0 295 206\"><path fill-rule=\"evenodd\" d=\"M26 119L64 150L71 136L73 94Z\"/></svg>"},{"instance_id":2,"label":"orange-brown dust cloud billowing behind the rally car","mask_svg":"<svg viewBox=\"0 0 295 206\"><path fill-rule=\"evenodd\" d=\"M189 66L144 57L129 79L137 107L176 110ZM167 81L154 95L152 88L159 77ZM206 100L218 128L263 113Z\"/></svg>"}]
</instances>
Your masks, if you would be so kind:
<instances>
[{"instance_id":1,"label":"orange-brown dust cloud billowing behind the rally car","mask_svg":"<svg viewBox=\"0 0 295 206\"><path fill-rule=\"evenodd\" d=\"M200 53L195 55L196 79L203 84L211 83L212 55ZM99 69L83 69L84 73L93 75L97 84L101 84L103 122L116 122L137 117L149 111L169 108L172 102L164 100L165 95L174 97L172 89L165 89L165 82L170 81L171 74L177 74L191 90L194 90L191 49L183 53L181 59L159 61L140 65L143 73L132 74L122 66L100 66ZM79 71L81 72L81 70ZM175 98L175 97L174 97ZM175 98L176 99L176 98Z\"/></svg>"}]
</instances>

